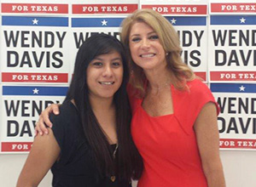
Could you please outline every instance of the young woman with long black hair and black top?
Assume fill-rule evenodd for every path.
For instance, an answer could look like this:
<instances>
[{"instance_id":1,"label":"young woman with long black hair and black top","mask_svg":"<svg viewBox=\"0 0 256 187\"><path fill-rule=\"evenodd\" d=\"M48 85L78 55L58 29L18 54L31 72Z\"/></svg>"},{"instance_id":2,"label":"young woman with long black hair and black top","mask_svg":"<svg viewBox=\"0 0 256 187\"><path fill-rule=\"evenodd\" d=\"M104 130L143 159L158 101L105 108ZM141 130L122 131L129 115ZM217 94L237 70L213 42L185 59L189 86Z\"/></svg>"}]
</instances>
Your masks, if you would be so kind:
<instances>
[{"instance_id":1,"label":"young woman with long black hair and black top","mask_svg":"<svg viewBox=\"0 0 256 187\"><path fill-rule=\"evenodd\" d=\"M116 38L87 39L60 115L50 116L49 136L34 139L17 186L37 186L49 168L53 186L131 186L143 164L131 139L128 77L124 48Z\"/></svg>"}]
</instances>

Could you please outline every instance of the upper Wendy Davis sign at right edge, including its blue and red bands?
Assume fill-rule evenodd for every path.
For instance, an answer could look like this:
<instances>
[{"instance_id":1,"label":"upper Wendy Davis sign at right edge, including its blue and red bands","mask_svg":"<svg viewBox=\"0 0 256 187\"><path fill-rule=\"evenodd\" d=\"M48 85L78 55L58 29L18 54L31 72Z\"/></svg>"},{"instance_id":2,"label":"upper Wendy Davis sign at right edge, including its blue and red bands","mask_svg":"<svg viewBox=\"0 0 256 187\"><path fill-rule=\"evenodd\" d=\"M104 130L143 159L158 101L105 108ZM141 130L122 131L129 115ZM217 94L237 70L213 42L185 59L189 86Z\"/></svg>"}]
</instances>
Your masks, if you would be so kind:
<instances>
[{"instance_id":1,"label":"upper Wendy Davis sign at right edge, including its blue and red bands","mask_svg":"<svg viewBox=\"0 0 256 187\"><path fill-rule=\"evenodd\" d=\"M256 14L212 14L209 26L211 82L256 81Z\"/></svg>"}]
</instances>

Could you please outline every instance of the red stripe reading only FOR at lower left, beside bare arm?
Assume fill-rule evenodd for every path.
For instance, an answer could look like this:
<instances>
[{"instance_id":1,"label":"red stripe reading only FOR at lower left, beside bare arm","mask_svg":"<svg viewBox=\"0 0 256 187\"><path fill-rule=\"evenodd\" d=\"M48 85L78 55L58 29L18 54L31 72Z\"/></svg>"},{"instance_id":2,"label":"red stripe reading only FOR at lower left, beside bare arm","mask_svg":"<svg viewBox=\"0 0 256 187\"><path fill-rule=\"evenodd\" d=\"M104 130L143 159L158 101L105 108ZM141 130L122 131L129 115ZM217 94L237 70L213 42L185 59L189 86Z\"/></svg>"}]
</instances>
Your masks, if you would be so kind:
<instances>
[{"instance_id":1,"label":"red stripe reading only FOR at lower left, beside bare arm","mask_svg":"<svg viewBox=\"0 0 256 187\"><path fill-rule=\"evenodd\" d=\"M2 152L28 152L32 142L2 142Z\"/></svg>"}]
</instances>

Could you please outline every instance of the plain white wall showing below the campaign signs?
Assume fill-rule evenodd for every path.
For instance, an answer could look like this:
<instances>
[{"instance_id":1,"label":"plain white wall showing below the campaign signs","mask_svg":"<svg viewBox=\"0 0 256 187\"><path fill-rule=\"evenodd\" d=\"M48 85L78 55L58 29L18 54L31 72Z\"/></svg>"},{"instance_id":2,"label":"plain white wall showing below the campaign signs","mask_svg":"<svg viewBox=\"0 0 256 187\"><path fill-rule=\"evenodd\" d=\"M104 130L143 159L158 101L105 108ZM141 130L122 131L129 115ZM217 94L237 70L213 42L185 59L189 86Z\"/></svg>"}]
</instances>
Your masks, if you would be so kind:
<instances>
[{"instance_id":1,"label":"plain white wall showing below the campaign signs","mask_svg":"<svg viewBox=\"0 0 256 187\"><path fill-rule=\"evenodd\" d=\"M256 151L221 150L220 155L227 187L256 186ZM15 186L26 156L26 154L0 155L1 187ZM39 187L49 187L51 178L52 175L49 172Z\"/></svg>"}]
</instances>

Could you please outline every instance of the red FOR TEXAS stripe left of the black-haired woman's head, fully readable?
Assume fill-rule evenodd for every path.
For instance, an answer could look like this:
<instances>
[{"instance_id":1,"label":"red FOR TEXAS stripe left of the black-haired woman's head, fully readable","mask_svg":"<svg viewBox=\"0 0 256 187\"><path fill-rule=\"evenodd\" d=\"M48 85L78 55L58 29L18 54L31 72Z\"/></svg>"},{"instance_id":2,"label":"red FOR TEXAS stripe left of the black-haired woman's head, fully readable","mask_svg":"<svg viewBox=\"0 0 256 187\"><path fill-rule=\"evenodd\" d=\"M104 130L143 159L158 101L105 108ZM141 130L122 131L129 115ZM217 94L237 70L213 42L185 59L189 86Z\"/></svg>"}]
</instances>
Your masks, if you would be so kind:
<instances>
[{"instance_id":1,"label":"red FOR TEXAS stripe left of the black-haired woman's head, fully readable","mask_svg":"<svg viewBox=\"0 0 256 187\"><path fill-rule=\"evenodd\" d=\"M2 82L67 82L67 73L2 73Z\"/></svg>"}]
</instances>

